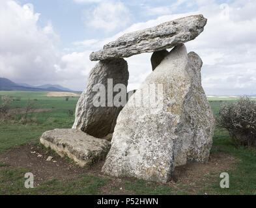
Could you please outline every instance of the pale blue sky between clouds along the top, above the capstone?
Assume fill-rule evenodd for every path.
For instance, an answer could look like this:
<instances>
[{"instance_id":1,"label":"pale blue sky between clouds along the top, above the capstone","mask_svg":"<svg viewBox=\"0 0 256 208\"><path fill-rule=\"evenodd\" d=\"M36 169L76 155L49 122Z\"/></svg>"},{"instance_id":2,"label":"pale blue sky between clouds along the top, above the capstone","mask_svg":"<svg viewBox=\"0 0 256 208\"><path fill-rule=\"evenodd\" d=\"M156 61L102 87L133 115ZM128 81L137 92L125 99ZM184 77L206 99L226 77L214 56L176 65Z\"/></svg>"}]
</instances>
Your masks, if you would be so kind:
<instances>
[{"instance_id":1,"label":"pale blue sky between clouds along the top, above the capstone","mask_svg":"<svg viewBox=\"0 0 256 208\"><path fill-rule=\"evenodd\" d=\"M121 31L125 27L119 27L113 31L100 31L87 27L85 24L86 17L90 18L91 11L96 8L97 0L91 0L81 3L74 0L20 0L21 5L31 3L34 6L35 12L40 13L40 19L38 25L44 27L49 21L52 23L55 32L59 34L61 38L61 44L63 47L68 47L72 42L78 40L92 39L92 38L105 38ZM171 13L183 13L196 11L198 6L195 2L190 4L187 1L180 3L180 5L174 6L176 0L144 0L144 1L120 1L128 8L130 12L130 20L124 26L128 27L136 22L148 21L150 19L157 18L158 16L171 14ZM231 1L216 1L218 3L227 3ZM150 8L160 8L159 11L149 14ZM165 8L165 9L163 9Z\"/></svg>"}]
</instances>

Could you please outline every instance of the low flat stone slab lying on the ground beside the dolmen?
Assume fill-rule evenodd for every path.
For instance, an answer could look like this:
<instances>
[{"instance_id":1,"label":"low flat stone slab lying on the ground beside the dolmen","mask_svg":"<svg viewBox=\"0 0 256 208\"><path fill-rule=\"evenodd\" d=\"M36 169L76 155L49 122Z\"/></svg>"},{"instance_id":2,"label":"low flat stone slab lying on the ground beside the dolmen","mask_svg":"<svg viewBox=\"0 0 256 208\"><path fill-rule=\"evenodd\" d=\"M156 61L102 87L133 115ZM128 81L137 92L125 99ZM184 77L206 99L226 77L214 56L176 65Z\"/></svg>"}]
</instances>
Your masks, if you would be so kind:
<instances>
[{"instance_id":1,"label":"low flat stone slab lying on the ground beside the dolmen","mask_svg":"<svg viewBox=\"0 0 256 208\"><path fill-rule=\"evenodd\" d=\"M94 138L77 129L54 129L46 131L40 142L56 151L61 157L68 156L79 166L91 166L94 162L105 159L110 142Z\"/></svg>"}]
</instances>

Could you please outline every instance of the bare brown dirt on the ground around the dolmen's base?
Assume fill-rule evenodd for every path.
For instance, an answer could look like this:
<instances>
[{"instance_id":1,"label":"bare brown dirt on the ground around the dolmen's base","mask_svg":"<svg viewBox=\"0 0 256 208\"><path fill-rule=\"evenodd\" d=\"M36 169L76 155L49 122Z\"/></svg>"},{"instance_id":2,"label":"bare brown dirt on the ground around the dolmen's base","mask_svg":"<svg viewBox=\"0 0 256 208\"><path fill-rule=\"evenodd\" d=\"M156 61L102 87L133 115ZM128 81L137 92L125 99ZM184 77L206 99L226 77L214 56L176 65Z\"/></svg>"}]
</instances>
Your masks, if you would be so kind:
<instances>
[{"instance_id":1,"label":"bare brown dirt on the ground around the dolmen's base","mask_svg":"<svg viewBox=\"0 0 256 208\"><path fill-rule=\"evenodd\" d=\"M52 161L46 161L49 156L53 156ZM180 192L186 190L186 192L190 194L197 194L202 190L202 187L209 184L209 181L212 182L210 180L211 175L214 175L214 177L218 179L218 175L220 175L221 172L235 168L236 161L235 157L231 155L213 153L210 155L209 161L205 164L190 162L184 166L176 167L172 181L165 185L173 187L174 190ZM0 162L10 165L8 168L26 168L34 174L36 185L40 185L40 183L53 178L63 180L74 179L83 174L104 176L101 173L104 161L94 164L91 168L81 168L68 159L61 158L50 150L42 148L38 144L27 144L10 149L0 155ZM0 167L0 170L1 168L7 167ZM130 190L125 190L124 184L125 181L134 181L135 183L135 179L107 178L109 178L111 182L101 189L102 194L111 194L113 190L115 190L115 194L134 194ZM160 185L159 183L152 184L153 186Z\"/></svg>"}]
</instances>

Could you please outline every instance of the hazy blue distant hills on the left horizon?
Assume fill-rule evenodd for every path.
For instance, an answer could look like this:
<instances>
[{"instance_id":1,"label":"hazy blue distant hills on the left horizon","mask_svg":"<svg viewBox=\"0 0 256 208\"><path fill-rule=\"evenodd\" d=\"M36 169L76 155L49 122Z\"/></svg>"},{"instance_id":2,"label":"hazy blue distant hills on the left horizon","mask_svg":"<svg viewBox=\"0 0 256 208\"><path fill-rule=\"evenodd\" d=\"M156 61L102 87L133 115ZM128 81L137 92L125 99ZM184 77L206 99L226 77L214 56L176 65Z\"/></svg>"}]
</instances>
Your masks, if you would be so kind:
<instances>
[{"instance_id":1,"label":"hazy blue distant hills on the left horizon","mask_svg":"<svg viewBox=\"0 0 256 208\"><path fill-rule=\"evenodd\" d=\"M49 92L74 92L68 88L64 88L60 85L41 85L41 86L32 86L25 83L17 84L10 79L0 77L0 90L2 91L49 91Z\"/></svg>"}]
</instances>

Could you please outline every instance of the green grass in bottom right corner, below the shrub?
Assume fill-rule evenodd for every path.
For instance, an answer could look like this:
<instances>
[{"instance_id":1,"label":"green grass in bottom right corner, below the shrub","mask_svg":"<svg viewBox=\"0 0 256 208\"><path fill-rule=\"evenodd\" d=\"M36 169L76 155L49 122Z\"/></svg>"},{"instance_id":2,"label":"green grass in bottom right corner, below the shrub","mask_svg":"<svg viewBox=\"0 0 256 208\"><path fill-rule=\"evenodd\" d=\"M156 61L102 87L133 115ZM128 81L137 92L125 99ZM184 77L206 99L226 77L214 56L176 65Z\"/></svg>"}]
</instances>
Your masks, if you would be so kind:
<instances>
[{"instance_id":1,"label":"green grass in bottom right corner, below the shrub","mask_svg":"<svg viewBox=\"0 0 256 208\"><path fill-rule=\"evenodd\" d=\"M210 188L214 194L256 194L256 149L235 148L227 131L216 129L214 135L215 151L221 151L238 159L235 170L229 172L230 188L220 188L213 183Z\"/></svg>"}]
</instances>

